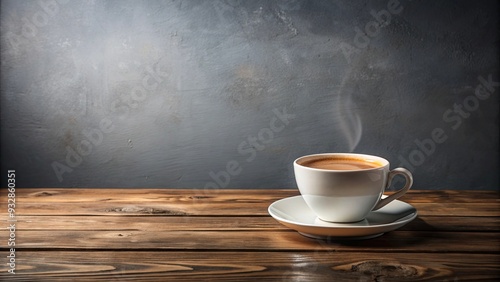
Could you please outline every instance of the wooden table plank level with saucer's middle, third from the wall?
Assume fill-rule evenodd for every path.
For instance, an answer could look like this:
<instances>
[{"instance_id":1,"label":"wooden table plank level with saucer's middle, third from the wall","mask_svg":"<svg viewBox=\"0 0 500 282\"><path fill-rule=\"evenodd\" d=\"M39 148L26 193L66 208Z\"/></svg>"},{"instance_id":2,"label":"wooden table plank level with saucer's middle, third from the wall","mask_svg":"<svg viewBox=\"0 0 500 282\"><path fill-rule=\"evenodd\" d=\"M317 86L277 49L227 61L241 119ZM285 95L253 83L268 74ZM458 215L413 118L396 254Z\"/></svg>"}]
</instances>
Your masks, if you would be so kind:
<instances>
[{"instance_id":1,"label":"wooden table plank level with saucer's middle, third from the wall","mask_svg":"<svg viewBox=\"0 0 500 282\"><path fill-rule=\"evenodd\" d=\"M6 222L0 216L0 222ZM17 230L82 231L234 231L289 230L271 216L18 216ZM500 231L500 217L418 216L399 230L406 231Z\"/></svg>"}]
</instances>

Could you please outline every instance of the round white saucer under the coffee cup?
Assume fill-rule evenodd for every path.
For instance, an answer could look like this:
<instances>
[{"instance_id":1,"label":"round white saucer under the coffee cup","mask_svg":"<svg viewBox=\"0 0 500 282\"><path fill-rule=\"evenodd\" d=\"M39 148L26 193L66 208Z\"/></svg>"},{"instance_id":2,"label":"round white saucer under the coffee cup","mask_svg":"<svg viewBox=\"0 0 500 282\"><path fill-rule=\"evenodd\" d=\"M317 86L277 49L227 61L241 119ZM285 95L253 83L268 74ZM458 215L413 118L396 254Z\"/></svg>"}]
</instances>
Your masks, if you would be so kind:
<instances>
[{"instance_id":1,"label":"round white saucer under the coffee cup","mask_svg":"<svg viewBox=\"0 0 500 282\"><path fill-rule=\"evenodd\" d=\"M394 200L383 208L370 212L360 222L326 222L316 217L302 196L278 200L269 206L268 212L281 224L304 236L336 240L375 238L398 229L417 217L417 210L412 205Z\"/></svg>"}]
</instances>

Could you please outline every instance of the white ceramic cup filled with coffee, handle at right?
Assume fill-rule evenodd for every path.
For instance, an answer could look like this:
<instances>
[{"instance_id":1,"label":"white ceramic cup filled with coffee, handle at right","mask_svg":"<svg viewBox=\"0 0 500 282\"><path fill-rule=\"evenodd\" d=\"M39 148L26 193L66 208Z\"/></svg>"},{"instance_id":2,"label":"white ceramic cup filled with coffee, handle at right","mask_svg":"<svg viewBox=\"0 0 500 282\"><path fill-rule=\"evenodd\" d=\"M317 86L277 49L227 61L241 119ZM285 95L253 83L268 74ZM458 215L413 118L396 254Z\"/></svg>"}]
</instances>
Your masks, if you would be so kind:
<instances>
[{"instance_id":1,"label":"white ceramic cup filled with coffee, handle at right","mask_svg":"<svg viewBox=\"0 0 500 282\"><path fill-rule=\"evenodd\" d=\"M357 222L403 196L412 186L412 174L404 168L389 170L381 157L354 153L303 156L293 162L295 180L305 202L319 219ZM382 198L396 175L406 179L403 188Z\"/></svg>"}]
</instances>

